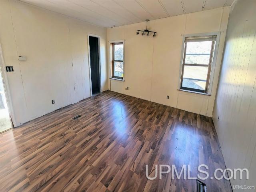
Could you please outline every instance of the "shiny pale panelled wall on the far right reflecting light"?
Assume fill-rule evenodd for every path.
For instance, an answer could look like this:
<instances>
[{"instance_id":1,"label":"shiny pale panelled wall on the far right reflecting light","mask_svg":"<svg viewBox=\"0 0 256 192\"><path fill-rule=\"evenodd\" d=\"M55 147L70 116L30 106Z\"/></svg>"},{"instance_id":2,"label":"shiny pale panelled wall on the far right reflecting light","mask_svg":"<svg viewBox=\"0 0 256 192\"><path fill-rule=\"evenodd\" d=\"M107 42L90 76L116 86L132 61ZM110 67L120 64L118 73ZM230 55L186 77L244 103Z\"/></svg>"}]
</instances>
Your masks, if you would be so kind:
<instances>
[{"instance_id":1,"label":"shiny pale panelled wall on the far right reflecting light","mask_svg":"<svg viewBox=\"0 0 256 192\"><path fill-rule=\"evenodd\" d=\"M244 175L243 180L230 180L232 185L256 183L255 10L255 0L238 0L230 14L214 108L213 120L226 167L249 169L249 180Z\"/></svg>"}]
</instances>

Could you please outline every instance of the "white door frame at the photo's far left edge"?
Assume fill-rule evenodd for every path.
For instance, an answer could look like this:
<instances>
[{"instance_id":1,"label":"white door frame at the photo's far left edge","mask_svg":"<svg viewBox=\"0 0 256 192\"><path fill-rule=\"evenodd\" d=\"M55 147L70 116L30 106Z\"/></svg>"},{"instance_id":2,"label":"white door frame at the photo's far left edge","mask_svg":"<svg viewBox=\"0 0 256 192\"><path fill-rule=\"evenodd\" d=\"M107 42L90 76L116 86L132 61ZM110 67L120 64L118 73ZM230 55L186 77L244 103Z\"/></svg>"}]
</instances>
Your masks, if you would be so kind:
<instances>
[{"instance_id":1,"label":"white door frame at the photo's far left edge","mask_svg":"<svg viewBox=\"0 0 256 192\"><path fill-rule=\"evenodd\" d=\"M4 56L3 56L1 42L0 42L0 73L2 76L4 94L5 94L5 98L6 98L6 103L7 103L7 107L8 107L11 125L12 125L12 128L14 128L15 126L17 126L17 124L16 124L16 119L14 116L14 110L13 110L12 99L11 99L12 97L10 95L10 86L9 86L9 82L8 82L8 78L7 78L7 74L6 74L6 70L5 70L5 62L4 62Z\"/></svg>"}]
</instances>

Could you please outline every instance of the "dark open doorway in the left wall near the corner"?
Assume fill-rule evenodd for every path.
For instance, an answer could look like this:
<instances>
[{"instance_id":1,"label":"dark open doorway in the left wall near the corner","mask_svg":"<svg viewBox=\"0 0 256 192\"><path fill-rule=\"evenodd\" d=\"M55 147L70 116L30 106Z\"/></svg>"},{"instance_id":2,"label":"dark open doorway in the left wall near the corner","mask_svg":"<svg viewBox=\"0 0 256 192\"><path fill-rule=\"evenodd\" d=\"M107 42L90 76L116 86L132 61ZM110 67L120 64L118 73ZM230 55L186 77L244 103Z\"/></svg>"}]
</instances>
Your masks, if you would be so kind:
<instances>
[{"instance_id":1,"label":"dark open doorway in the left wall near the corner","mask_svg":"<svg viewBox=\"0 0 256 192\"><path fill-rule=\"evenodd\" d=\"M100 93L99 38L89 36L92 94Z\"/></svg>"}]
</instances>

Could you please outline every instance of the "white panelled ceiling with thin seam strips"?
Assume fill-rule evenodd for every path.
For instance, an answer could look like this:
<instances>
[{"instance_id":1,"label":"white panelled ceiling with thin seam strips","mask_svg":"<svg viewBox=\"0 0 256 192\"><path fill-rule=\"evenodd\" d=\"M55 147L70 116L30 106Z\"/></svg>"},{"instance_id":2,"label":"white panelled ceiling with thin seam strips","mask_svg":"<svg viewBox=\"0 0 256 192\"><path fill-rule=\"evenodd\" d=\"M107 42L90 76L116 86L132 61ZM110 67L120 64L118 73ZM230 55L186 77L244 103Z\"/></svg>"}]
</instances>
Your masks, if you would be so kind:
<instances>
[{"instance_id":1,"label":"white panelled ceiling with thin seam strips","mask_svg":"<svg viewBox=\"0 0 256 192\"><path fill-rule=\"evenodd\" d=\"M103 27L121 26L207 9L234 0L20 0Z\"/></svg>"}]
</instances>

